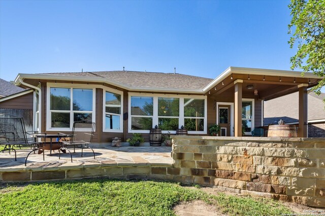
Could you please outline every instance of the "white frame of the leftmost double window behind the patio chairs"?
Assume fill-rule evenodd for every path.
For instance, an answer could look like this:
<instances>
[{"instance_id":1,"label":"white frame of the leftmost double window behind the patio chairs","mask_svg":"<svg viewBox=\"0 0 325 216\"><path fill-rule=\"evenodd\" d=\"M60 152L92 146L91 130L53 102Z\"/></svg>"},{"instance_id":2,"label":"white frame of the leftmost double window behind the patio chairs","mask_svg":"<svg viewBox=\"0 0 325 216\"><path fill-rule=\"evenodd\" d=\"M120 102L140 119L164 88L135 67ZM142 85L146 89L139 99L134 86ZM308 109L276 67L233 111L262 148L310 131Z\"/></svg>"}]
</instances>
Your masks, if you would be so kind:
<instances>
[{"instance_id":1,"label":"white frame of the leftmost double window behind the patio chairs","mask_svg":"<svg viewBox=\"0 0 325 216\"><path fill-rule=\"evenodd\" d=\"M62 113L70 113L70 127L51 127L51 110L50 110L50 88L66 88L71 89L71 108L70 111L62 110ZM96 88L95 85L91 84L69 84L69 83L54 83L48 82L47 83L47 90L46 90L46 131L61 131L61 132L68 132L72 131L73 127L73 89L91 89L92 90L92 111L78 111L78 113L91 113L92 121L95 122L96 119ZM60 111L61 112L61 111ZM88 130L86 130L88 131Z\"/></svg>"}]
</instances>

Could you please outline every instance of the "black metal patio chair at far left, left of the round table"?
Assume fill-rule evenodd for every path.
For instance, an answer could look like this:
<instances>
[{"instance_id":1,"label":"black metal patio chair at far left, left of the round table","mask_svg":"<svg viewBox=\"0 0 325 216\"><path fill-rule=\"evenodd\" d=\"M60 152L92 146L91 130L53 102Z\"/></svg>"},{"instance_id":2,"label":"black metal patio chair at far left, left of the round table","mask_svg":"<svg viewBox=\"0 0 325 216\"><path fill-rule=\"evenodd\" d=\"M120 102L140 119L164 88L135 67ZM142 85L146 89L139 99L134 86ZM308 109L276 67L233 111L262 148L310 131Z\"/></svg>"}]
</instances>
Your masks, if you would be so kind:
<instances>
[{"instance_id":1,"label":"black metal patio chair at far left, left of the round table","mask_svg":"<svg viewBox=\"0 0 325 216\"><path fill-rule=\"evenodd\" d=\"M0 136L6 137L6 142L3 140L4 149L1 151L11 151L15 152L15 161L17 161L16 149L26 150L25 147L30 147L32 149L25 159L25 164L27 158L31 152L35 152L41 145L41 143L36 142L36 138L30 137L31 134L38 132L25 131L24 119L19 116L14 116L10 114L0 114ZM29 136L27 136L29 135Z\"/></svg>"}]
</instances>

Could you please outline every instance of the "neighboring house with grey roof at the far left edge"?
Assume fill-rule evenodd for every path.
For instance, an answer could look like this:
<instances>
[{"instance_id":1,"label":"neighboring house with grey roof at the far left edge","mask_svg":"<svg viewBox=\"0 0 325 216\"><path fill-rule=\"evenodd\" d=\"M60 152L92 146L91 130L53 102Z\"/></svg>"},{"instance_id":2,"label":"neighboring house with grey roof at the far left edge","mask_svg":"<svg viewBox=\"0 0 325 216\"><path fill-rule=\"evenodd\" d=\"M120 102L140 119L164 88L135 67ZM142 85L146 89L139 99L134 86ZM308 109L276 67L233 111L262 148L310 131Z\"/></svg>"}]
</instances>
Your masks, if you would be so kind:
<instances>
[{"instance_id":1,"label":"neighboring house with grey roof at the far left edge","mask_svg":"<svg viewBox=\"0 0 325 216\"><path fill-rule=\"evenodd\" d=\"M34 91L0 79L0 114L22 116L27 131L33 131Z\"/></svg>"}]
</instances>

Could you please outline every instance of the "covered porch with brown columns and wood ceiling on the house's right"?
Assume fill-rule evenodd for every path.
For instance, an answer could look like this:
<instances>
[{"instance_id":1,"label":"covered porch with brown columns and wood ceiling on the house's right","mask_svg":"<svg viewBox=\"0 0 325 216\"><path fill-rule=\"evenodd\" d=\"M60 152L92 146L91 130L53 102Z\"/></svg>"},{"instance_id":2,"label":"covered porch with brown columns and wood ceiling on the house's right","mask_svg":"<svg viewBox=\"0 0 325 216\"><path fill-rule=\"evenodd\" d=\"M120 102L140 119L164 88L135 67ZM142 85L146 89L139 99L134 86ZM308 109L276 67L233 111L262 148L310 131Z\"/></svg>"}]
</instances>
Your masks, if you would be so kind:
<instances>
[{"instance_id":1,"label":"covered porch with brown columns and wood ceiling on the house's right","mask_svg":"<svg viewBox=\"0 0 325 216\"><path fill-rule=\"evenodd\" d=\"M298 137L307 137L307 89L319 80L312 73L230 67L204 89L211 110L208 123L219 124L221 136L250 135L263 126L264 101L299 92Z\"/></svg>"}]
</instances>

